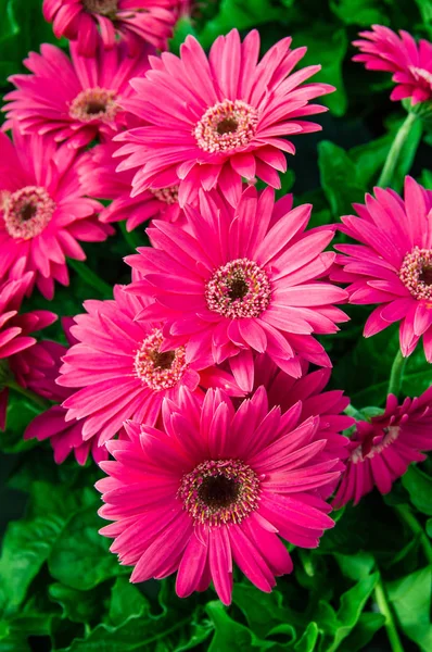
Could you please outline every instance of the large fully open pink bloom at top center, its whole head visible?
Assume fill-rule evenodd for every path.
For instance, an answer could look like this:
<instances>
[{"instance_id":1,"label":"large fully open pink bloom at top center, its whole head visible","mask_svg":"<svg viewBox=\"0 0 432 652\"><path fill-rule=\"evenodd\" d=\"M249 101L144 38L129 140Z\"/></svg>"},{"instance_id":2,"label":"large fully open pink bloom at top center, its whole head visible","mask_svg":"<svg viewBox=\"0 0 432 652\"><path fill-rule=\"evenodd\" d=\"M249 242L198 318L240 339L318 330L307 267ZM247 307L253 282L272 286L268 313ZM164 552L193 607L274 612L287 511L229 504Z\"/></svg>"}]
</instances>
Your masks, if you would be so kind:
<instances>
[{"instance_id":1,"label":"large fully open pink bloom at top center, its whole head visible","mask_svg":"<svg viewBox=\"0 0 432 652\"><path fill-rule=\"evenodd\" d=\"M200 187L218 185L236 205L242 177L280 188L283 152L295 152L282 137L320 129L301 118L326 111L308 102L334 90L328 84L301 86L320 66L290 74L306 52L290 50L290 43L291 38L276 43L258 64L258 33L241 43L232 29L216 39L208 60L192 36L180 58L151 57L152 70L131 82L137 96L124 102L147 125L117 137L127 142L118 155L128 154L118 170L140 168L134 195L179 184L183 205Z\"/></svg>"}]
</instances>

